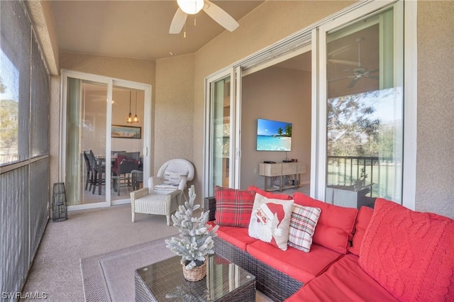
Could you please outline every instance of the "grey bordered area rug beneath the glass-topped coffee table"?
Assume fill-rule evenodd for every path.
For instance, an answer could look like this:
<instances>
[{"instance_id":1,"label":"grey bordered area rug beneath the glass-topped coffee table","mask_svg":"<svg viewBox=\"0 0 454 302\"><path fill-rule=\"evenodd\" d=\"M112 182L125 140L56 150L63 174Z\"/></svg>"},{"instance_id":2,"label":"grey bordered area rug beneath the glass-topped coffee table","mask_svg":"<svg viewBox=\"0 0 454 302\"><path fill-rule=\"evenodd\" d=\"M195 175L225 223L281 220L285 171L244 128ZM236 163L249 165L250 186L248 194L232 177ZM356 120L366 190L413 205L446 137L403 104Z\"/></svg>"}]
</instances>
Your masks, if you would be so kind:
<instances>
[{"instance_id":1,"label":"grey bordered area rug beneath the glass-topped coffee table","mask_svg":"<svg viewBox=\"0 0 454 302\"><path fill-rule=\"evenodd\" d=\"M80 259L85 301L134 301L135 269L175 256L165 247L167 238Z\"/></svg>"}]
</instances>

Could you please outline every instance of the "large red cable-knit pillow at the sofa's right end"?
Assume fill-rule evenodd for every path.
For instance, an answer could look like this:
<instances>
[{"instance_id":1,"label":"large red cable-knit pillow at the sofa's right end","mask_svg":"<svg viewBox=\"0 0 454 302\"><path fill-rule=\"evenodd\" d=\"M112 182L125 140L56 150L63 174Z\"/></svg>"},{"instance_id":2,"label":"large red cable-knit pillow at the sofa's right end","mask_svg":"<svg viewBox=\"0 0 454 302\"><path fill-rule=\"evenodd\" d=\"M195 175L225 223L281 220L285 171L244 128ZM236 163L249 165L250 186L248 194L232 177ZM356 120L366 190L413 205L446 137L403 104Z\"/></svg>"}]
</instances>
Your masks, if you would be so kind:
<instances>
[{"instance_id":1,"label":"large red cable-knit pillow at the sofa's right end","mask_svg":"<svg viewBox=\"0 0 454 302\"><path fill-rule=\"evenodd\" d=\"M454 301L454 220L377 198L358 262L401 301Z\"/></svg>"}]
</instances>

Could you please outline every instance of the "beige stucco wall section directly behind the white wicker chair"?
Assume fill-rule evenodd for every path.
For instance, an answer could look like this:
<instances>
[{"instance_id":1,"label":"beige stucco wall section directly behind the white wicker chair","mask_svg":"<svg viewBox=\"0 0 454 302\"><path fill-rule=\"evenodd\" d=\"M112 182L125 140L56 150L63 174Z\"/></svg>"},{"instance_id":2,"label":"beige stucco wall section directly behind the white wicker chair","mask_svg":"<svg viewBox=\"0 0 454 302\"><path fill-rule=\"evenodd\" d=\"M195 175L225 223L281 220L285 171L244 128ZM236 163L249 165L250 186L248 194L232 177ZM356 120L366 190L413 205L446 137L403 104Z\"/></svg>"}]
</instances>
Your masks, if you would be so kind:
<instances>
[{"instance_id":1,"label":"beige stucco wall section directly behind the white wicker chair","mask_svg":"<svg viewBox=\"0 0 454 302\"><path fill-rule=\"evenodd\" d=\"M156 62L154 118L155 172L173 158L192 162L194 55Z\"/></svg>"}]
</instances>

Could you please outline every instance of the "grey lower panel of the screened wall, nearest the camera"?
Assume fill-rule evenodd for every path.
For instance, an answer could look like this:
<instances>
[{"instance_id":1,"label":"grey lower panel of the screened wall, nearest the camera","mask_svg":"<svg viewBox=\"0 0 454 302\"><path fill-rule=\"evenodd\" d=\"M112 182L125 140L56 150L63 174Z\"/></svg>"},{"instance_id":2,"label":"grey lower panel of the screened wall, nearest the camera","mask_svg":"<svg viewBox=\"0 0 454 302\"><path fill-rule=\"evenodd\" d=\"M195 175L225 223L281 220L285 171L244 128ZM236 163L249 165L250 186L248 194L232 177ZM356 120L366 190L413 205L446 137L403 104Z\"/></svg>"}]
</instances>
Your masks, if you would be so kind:
<instances>
[{"instance_id":1,"label":"grey lower panel of the screened wall, nearest the camera","mask_svg":"<svg viewBox=\"0 0 454 302\"><path fill-rule=\"evenodd\" d=\"M20 291L30 263L28 166L0 175L2 292Z\"/></svg>"}]
</instances>

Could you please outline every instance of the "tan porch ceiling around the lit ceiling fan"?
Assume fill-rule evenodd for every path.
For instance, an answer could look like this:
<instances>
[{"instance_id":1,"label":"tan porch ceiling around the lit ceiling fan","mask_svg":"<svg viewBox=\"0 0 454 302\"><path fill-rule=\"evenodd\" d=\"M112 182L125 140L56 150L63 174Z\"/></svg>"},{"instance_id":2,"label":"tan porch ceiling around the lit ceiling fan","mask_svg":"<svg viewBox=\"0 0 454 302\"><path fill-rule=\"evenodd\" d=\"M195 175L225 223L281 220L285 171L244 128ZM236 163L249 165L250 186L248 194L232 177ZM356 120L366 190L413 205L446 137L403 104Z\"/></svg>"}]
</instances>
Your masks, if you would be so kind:
<instances>
[{"instance_id":1,"label":"tan porch ceiling around the lit ceiling fan","mask_svg":"<svg viewBox=\"0 0 454 302\"><path fill-rule=\"evenodd\" d=\"M264 1L213 1L236 21ZM186 38L169 34L177 1L52 0L58 47L63 52L158 60L194 53L225 30L204 11L186 23ZM239 21L241 26L241 22Z\"/></svg>"}]
</instances>

